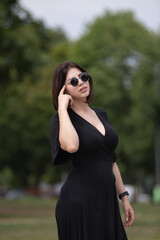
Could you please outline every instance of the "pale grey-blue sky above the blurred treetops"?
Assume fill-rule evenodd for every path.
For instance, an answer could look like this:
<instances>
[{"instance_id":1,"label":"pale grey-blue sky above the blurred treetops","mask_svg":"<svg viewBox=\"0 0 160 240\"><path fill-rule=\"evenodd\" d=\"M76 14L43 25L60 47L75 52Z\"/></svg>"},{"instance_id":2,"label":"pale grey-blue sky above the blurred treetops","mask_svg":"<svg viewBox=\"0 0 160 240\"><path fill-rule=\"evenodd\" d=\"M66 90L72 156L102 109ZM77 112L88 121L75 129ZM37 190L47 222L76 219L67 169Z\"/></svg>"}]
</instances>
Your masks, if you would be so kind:
<instances>
[{"instance_id":1,"label":"pale grey-blue sky above the blurred treetops","mask_svg":"<svg viewBox=\"0 0 160 240\"><path fill-rule=\"evenodd\" d=\"M20 4L48 27L61 27L72 40L106 10L131 10L148 29L160 32L160 0L20 0Z\"/></svg>"}]
</instances>

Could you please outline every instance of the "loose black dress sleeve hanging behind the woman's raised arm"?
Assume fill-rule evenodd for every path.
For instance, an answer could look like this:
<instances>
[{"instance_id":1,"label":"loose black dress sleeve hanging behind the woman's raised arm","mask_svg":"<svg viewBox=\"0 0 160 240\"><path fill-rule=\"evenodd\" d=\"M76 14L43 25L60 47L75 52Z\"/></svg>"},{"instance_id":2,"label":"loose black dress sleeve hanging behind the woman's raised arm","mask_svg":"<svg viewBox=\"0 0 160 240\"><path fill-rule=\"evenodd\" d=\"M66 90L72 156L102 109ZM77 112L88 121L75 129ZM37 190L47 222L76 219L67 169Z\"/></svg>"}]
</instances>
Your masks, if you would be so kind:
<instances>
[{"instance_id":1,"label":"loose black dress sleeve hanging behind the woman's raised arm","mask_svg":"<svg viewBox=\"0 0 160 240\"><path fill-rule=\"evenodd\" d=\"M59 143L59 118L56 113L50 119L50 141L52 164L60 165L69 161L69 153L60 147Z\"/></svg>"}]
</instances>

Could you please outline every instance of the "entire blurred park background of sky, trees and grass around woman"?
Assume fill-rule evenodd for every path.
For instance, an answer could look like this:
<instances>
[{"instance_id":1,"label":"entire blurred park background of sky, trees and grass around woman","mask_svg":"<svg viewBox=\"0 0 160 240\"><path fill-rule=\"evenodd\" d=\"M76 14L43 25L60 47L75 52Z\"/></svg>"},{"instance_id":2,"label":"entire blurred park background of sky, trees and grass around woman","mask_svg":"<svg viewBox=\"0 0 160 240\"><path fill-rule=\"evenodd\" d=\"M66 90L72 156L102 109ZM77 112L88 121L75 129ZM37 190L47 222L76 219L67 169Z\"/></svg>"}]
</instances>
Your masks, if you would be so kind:
<instances>
[{"instance_id":1,"label":"entire blurred park background of sky, trees and grass around woman","mask_svg":"<svg viewBox=\"0 0 160 240\"><path fill-rule=\"evenodd\" d=\"M2 239L57 239L54 207L71 165L52 166L49 121L53 71L65 60L90 73L91 106L118 132L136 211L129 239L160 239L159 12L158 0L0 1Z\"/></svg>"}]
</instances>

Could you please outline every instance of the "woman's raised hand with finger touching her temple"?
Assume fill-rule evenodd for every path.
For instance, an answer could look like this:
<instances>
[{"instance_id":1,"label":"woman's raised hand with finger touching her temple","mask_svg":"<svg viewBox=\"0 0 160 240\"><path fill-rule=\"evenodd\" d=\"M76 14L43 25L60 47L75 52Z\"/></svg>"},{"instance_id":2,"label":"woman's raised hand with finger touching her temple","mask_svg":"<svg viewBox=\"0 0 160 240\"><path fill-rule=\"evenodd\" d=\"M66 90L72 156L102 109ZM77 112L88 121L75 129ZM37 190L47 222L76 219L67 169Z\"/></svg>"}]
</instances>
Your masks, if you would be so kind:
<instances>
[{"instance_id":1,"label":"woman's raised hand with finger touching her temple","mask_svg":"<svg viewBox=\"0 0 160 240\"><path fill-rule=\"evenodd\" d=\"M61 91L59 92L58 96L58 109L67 109L68 105L73 104L73 98L69 94L65 94L65 85L62 87Z\"/></svg>"}]
</instances>

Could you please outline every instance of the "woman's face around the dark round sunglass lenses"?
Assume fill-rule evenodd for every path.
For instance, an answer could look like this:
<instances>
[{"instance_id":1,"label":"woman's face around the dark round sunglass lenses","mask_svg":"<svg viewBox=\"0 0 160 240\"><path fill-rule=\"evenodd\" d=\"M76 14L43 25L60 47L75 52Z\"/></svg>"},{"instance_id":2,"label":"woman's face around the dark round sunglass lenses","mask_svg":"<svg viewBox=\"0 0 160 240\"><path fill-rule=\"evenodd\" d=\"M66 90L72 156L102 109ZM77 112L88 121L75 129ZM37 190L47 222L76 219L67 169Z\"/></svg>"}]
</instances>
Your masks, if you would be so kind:
<instances>
[{"instance_id":1,"label":"woman's face around the dark round sunglass lenses","mask_svg":"<svg viewBox=\"0 0 160 240\"><path fill-rule=\"evenodd\" d=\"M85 99L88 97L90 93L90 85L89 81L82 81L80 78L80 74L82 72L78 68L70 68L68 70L67 76L66 76L66 81L65 81L65 93L71 95L73 99ZM77 78L78 79L78 85L77 86L72 86L70 83L70 80L72 78Z\"/></svg>"}]
</instances>

